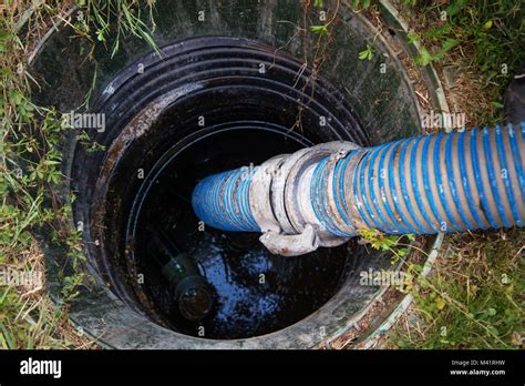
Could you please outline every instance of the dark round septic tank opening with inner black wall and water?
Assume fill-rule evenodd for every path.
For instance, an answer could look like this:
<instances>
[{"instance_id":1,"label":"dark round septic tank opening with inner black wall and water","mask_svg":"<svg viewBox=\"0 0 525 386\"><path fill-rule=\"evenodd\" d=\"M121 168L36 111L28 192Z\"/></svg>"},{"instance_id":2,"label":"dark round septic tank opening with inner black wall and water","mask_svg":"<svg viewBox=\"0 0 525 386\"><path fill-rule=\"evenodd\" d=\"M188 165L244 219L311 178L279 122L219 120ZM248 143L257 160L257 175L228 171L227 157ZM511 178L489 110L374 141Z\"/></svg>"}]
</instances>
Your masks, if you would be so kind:
<instances>
[{"instance_id":1,"label":"dark round septic tank opening with inner black wall and water","mask_svg":"<svg viewBox=\"0 0 525 386\"><path fill-rule=\"evenodd\" d=\"M116 139L110 153L120 151L119 162L107 194L95 204L105 227L115 230L101 234L101 260L113 286L157 323L197 337L203 328L206 338L235 339L292 325L326 304L346 282L348 261L356 265L364 255L356 243L300 257L271 255L257 233L214 230L194 214L192 191L209 174L333 139L368 143L339 91L320 77L311 81L308 68L298 77L300 62L274 55L274 74L262 80L254 79L250 68L239 69L270 53L247 43L198 40L200 58L220 57L224 64L204 62L207 88L186 84L184 90L198 91L177 95L156 115L151 114L159 103L154 101L145 108L148 113L123 128L123 133L135 130L135 122L145 120L150 125L125 151ZM112 95L125 105L128 95L120 98ZM132 184L128 171L135 167L147 172Z\"/></svg>"}]
</instances>

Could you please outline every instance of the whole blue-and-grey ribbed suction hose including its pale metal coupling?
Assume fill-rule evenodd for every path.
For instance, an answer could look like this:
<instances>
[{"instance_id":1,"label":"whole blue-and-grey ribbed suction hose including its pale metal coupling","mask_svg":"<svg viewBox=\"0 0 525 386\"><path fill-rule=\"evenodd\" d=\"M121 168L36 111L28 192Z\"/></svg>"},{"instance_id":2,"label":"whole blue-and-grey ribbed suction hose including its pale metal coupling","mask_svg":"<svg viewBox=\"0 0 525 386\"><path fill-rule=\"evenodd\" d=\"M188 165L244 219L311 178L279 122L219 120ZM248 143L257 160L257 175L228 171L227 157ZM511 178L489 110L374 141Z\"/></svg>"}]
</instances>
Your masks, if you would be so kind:
<instances>
[{"instance_id":1,"label":"whole blue-and-grey ribbed suction hose including its pale metal coupling","mask_svg":"<svg viewBox=\"0 0 525 386\"><path fill-rule=\"evenodd\" d=\"M432 234L523 226L525 122L373 148L329 142L210 175L192 204L207 225L262 232L281 255L336 246L361 228Z\"/></svg>"}]
</instances>

